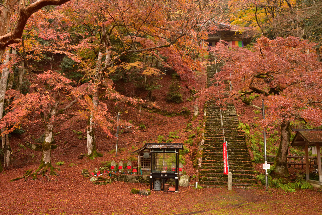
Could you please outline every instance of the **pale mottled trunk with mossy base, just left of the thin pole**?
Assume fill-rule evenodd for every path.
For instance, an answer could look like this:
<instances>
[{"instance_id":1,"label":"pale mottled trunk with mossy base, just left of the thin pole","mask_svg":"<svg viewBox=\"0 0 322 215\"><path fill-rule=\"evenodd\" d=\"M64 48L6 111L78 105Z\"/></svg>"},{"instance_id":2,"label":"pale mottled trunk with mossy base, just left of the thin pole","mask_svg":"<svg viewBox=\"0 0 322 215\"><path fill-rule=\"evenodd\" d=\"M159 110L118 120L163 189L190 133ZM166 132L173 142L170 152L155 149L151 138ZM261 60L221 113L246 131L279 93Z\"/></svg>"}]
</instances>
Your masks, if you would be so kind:
<instances>
[{"instance_id":1,"label":"pale mottled trunk with mossy base, just left of the thin pole","mask_svg":"<svg viewBox=\"0 0 322 215\"><path fill-rule=\"evenodd\" d=\"M96 79L99 75L99 69L100 69L100 63L102 61L102 53L99 51L99 55L97 58L97 62L96 62L96 72L95 72L95 77L94 77L94 88L95 92L92 98L92 102L94 105L94 108L98 106L99 104L99 100L98 100L98 92L97 92L97 88L98 88L98 84L96 83ZM96 151L96 143L95 143L95 133L94 133L94 117L93 117L93 113L90 113L90 118L88 120L87 123L87 153L90 159L94 159L95 157L102 157L102 154L99 154Z\"/></svg>"}]
</instances>

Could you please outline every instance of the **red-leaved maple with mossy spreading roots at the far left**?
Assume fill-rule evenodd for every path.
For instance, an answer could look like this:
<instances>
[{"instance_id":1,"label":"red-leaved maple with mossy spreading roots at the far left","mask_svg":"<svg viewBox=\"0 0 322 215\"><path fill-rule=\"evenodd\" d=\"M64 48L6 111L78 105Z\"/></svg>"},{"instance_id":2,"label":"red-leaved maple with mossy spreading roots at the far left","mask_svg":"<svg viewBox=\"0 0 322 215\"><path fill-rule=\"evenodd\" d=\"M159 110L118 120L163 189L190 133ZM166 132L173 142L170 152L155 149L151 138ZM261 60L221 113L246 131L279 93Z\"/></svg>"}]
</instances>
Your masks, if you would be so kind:
<instances>
[{"instance_id":1,"label":"red-leaved maple with mossy spreading roots at the far left","mask_svg":"<svg viewBox=\"0 0 322 215\"><path fill-rule=\"evenodd\" d=\"M34 79L32 87L34 92L26 95L20 94L16 90L7 92L10 97L14 97L12 104L8 107L9 111L2 119L2 138L9 132L13 131L20 124L28 121L31 115L38 115L38 120L44 125L45 135L42 143L42 159L39 168L33 173L33 178L37 178L40 170L43 175L50 170L50 174L56 174L52 166L51 150L57 146L52 145L52 129L55 120L62 117L58 115L64 110L74 105L83 94L77 89L73 89L70 85L70 79L63 77L61 74L54 71L47 71L37 75ZM82 86L84 87L84 86ZM84 91L84 89L82 90ZM62 94L70 92L76 98L68 105L58 109L61 102Z\"/></svg>"}]
</instances>

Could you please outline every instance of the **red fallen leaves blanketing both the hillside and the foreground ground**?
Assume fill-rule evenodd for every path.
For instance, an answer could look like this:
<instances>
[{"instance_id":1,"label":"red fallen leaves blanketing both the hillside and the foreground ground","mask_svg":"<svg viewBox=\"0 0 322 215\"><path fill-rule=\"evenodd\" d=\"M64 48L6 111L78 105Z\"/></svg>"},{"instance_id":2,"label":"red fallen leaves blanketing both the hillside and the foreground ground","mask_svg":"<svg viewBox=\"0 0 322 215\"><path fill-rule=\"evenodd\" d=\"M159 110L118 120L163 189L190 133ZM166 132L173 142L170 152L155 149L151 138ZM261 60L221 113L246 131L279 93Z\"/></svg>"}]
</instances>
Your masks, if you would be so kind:
<instances>
[{"instance_id":1,"label":"red fallen leaves blanketing both the hillside and the foreground ground","mask_svg":"<svg viewBox=\"0 0 322 215\"><path fill-rule=\"evenodd\" d=\"M172 104L166 101L166 92L171 83L170 75L165 76L160 83L163 87L156 90L155 102L161 110L174 112L182 107L192 109L191 102L186 100L189 94L184 90L184 103ZM118 90L131 96L133 89L133 86L123 85L123 89ZM140 98L146 96L146 92L140 92L139 89L135 89L135 93ZM79 139L79 136L85 136L87 119L79 118L66 123L66 119L72 119L81 110L75 105L66 113L66 118L58 121L54 127L58 147L52 151L52 163L64 161L65 164L59 167L59 176L50 176L49 182L46 177L41 176L37 181L27 179L9 182L22 176L24 171L35 170L39 166L41 152L34 152L23 145L26 142L33 143L33 136L38 138L44 133L42 124L24 125L25 134L13 135L10 138L13 150L12 167L0 174L0 214L322 214L322 197L317 190L285 193L281 189L270 189L270 192L263 192L263 189L234 189L228 192L226 188L195 190L192 187L180 187L178 193L152 191L150 196L145 197L130 194L131 188L149 189L144 184L113 182L108 185L94 185L89 178L81 175L83 168L92 170L101 166L103 161L112 159L116 162L124 159L127 162L129 157L135 156L131 152L141 147L143 141L156 141L158 135L166 137L169 132L178 131L180 138L175 142L182 143L194 132L187 132L186 124L192 123L195 128L199 126L202 117L200 114L199 118L191 121L191 118L184 116L168 117L151 113L148 109L139 112L137 107L123 103L115 105L107 102L107 105L113 115L122 112L122 119L131 120L136 126L142 123L146 129L120 135L119 148L122 150L115 157L112 150L115 148L116 139L107 137L97 128L97 148L104 156L94 161L87 158L78 160L79 154L87 152L86 139ZM251 115L252 110L247 111ZM245 119L242 118L247 121ZM77 131L83 133L79 135L76 134ZM186 155L184 170L190 176L195 174L191 160L197 144L195 142L192 146L186 146L190 153ZM70 164L73 166L69 167Z\"/></svg>"}]
</instances>

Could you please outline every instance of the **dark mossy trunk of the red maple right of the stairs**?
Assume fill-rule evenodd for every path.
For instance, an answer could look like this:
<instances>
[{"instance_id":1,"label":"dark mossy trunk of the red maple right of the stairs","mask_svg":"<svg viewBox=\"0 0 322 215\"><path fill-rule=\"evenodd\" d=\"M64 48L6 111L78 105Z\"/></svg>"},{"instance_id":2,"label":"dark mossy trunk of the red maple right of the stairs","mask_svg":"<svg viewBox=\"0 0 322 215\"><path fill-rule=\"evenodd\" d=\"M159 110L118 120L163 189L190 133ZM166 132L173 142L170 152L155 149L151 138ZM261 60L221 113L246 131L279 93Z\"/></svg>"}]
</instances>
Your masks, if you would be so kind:
<instances>
[{"instance_id":1,"label":"dark mossy trunk of the red maple right of the stairs","mask_svg":"<svg viewBox=\"0 0 322 215\"><path fill-rule=\"evenodd\" d=\"M289 152L289 141L291 139L291 130L289 121L283 122L280 125L281 128L281 140L279 143L279 149L276 154L276 159L274 162L275 172L279 174L280 177L289 175L289 170L287 168L287 155Z\"/></svg>"}]
</instances>

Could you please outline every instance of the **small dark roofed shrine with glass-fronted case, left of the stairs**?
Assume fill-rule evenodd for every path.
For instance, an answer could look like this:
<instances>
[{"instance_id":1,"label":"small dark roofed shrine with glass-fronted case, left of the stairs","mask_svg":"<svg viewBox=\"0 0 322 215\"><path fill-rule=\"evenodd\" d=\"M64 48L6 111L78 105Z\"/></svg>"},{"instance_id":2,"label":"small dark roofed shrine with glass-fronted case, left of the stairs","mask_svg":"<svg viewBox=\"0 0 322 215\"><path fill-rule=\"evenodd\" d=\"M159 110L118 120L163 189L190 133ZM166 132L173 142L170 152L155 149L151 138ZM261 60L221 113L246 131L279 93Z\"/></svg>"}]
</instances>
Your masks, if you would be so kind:
<instances>
[{"instance_id":1,"label":"small dark roofed shrine with glass-fronted case, left of the stairs","mask_svg":"<svg viewBox=\"0 0 322 215\"><path fill-rule=\"evenodd\" d=\"M179 189L179 150L182 143L147 143L133 152L138 153L137 165L141 166L142 173L149 171L152 190L167 191L167 180L175 180L175 188Z\"/></svg>"}]
</instances>

